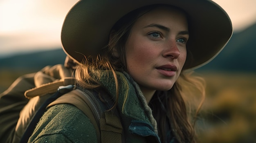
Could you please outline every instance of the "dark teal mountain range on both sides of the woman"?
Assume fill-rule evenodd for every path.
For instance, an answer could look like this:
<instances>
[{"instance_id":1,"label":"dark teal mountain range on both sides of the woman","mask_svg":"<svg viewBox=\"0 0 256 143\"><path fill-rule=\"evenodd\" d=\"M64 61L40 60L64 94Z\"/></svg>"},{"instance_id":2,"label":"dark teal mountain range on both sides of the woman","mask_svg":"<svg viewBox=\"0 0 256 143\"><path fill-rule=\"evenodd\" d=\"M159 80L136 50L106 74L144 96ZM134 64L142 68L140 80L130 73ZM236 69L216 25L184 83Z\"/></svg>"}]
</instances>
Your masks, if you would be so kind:
<instances>
[{"instance_id":1,"label":"dark teal mountain range on both sides of the woman","mask_svg":"<svg viewBox=\"0 0 256 143\"><path fill-rule=\"evenodd\" d=\"M61 48L0 58L2 68L39 70L47 65L63 64L65 53ZM199 71L256 72L256 24L234 33L223 51Z\"/></svg>"}]
</instances>

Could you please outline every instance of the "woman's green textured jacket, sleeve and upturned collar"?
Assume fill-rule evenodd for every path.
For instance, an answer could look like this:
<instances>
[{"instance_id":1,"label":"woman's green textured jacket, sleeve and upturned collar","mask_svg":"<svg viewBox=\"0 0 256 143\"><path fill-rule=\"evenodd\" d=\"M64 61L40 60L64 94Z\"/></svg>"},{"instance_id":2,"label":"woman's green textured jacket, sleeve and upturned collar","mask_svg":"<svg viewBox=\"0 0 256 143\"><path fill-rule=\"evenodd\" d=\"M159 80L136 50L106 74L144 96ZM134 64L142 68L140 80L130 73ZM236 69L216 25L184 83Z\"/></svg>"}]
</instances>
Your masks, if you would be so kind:
<instances>
[{"instance_id":1,"label":"woman's green textured jacket, sleeve and upturned collar","mask_svg":"<svg viewBox=\"0 0 256 143\"><path fill-rule=\"evenodd\" d=\"M157 124L139 86L128 74L117 75L118 110L124 128L124 142L146 143L150 140L158 143ZM112 97L115 96L113 81L111 74L103 72L100 82ZM59 104L45 112L29 142L96 143L97 134L94 125L81 110L69 104Z\"/></svg>"}]
</instances>

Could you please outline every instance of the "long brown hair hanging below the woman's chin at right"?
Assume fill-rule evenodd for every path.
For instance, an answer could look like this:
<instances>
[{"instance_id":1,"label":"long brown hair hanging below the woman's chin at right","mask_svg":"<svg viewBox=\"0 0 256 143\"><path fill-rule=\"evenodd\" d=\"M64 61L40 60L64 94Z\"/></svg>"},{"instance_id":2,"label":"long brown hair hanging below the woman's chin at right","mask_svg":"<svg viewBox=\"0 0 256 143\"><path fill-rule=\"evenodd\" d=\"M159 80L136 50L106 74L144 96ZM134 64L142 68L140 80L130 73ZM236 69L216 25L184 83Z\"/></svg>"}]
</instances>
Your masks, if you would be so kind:
<instances>
[{"instance_id":1,"label":"long brown hair hanging below the woman's chin at right","mask_svg":"<svg viewBox=\"0 0 256 143\"><path fill-rule=\"evenodd\" d=\"M192 73L182 72L171 90L155 92L149 102L162 141L168 139L166 133L171 129L180 143L196 142L195 121L204 101L205 84Z\"/></svg>"}]
</instances>

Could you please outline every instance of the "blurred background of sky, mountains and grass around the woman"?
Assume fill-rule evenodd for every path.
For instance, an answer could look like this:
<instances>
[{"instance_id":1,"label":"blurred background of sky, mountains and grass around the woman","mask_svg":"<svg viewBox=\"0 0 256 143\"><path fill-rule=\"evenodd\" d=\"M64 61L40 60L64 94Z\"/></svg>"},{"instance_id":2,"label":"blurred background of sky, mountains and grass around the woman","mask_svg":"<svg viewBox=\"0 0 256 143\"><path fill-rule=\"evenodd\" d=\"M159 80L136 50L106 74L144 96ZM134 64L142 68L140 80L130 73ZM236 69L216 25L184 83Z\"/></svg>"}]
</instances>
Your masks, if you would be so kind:
<instances>
[{"instance_id":1,"label":"blurred background of sky, mountains and grass around the woman","mask_svg":"<svg viewBox=\"0 0 256 143\"><path fill-rule=\"evenodd\" d=\"M77 0L0 0L0 92L20 75L63 64L61 26ZM234 35L204 77L202 143L256 143L256 0L213 0Z\"/></svg>"}]
</instances>

